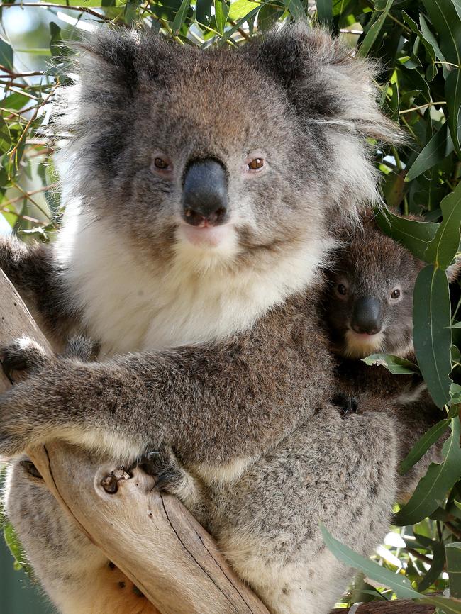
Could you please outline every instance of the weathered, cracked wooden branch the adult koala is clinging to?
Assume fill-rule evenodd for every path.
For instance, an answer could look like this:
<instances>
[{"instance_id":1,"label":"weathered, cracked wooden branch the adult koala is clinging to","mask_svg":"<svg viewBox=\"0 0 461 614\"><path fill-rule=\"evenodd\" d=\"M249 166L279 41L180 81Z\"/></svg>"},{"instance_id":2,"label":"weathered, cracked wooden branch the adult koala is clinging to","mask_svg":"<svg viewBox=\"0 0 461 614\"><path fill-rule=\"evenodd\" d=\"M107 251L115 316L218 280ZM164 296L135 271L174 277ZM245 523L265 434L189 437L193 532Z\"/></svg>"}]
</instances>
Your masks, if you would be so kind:
<instances>
[{"instance_id":1,"label":"weathered, cracked wooden branch the adult koala is clinging to","mask_svg":"<svg viewBox=\"0 0 461 614\"><path fill-rule=\"evenodd\" d=\"M0 345L21 336L32 337L51 352L0 270ZM0 393L10 386L0 372ZM145 614L269 614L235 576L204 528L176 498L153 489L154 480L143 471L135 469L128 476L65 442L35 447L28 454L72 522L153 604ZM109 614L111 603L107 608ZM354 614L434 611L431 605L387 601L364 603Z\"/></svg>"}]
</instances>

